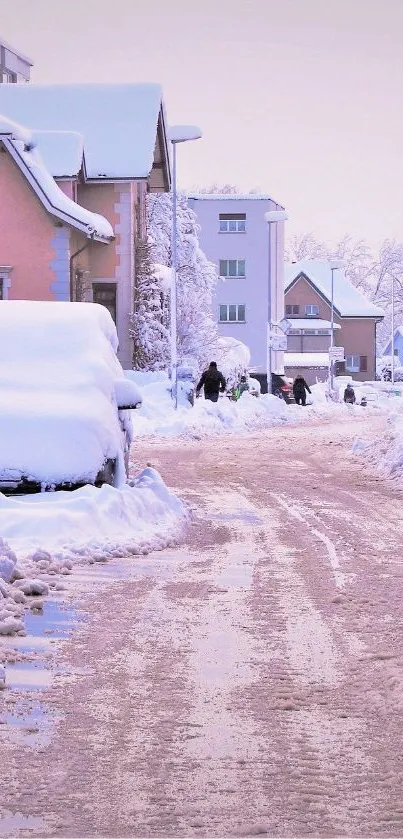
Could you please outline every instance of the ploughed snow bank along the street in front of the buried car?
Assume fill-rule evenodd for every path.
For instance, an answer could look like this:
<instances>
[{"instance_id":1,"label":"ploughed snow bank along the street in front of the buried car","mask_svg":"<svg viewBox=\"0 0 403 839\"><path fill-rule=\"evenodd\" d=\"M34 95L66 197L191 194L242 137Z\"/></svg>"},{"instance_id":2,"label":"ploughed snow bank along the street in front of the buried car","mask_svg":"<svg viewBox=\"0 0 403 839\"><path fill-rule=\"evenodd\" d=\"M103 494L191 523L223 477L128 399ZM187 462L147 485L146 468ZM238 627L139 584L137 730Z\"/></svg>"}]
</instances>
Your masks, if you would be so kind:
<instances>
[{"instance_id":1,"label":"ploughed snow bank along the street in front of the buried car","mask_svg":"<svg viewBox=\"0 0 403 839\"><path fill-rule=\"evenodd\" d=\"M60 588L60 576L71 573L74 564L173 545L188 515L150 467L121 489L0 494L0 635L24 633L24 611L32 598Z\"/></svg>"}]
</instances>

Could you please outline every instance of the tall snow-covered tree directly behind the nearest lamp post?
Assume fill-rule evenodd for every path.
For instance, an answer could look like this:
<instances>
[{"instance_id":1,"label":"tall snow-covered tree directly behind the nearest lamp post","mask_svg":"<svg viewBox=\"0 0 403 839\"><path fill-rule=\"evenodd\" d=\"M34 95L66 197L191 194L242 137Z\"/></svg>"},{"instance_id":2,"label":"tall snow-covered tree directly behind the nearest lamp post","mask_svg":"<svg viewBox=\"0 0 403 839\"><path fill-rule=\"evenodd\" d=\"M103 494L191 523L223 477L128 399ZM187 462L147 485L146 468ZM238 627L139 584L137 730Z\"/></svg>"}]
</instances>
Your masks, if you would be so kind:
<instances>
[{"instance_id":1,"label":"tall snow-covered tree directly behind the nearest lamp post","mask_svg":"<svg viewBox=\"0 0 403 839\"><path fill-rule=\"evenodd\" d=\"M154 263L171 267L172 197L167 193L148 196L148 234ZM217 268L200 248L199 225L186 196L177 202L177 335L178 363L197 372L214 357L217 324L212 316L212 295Z\"/></svg>"}]
</instances>

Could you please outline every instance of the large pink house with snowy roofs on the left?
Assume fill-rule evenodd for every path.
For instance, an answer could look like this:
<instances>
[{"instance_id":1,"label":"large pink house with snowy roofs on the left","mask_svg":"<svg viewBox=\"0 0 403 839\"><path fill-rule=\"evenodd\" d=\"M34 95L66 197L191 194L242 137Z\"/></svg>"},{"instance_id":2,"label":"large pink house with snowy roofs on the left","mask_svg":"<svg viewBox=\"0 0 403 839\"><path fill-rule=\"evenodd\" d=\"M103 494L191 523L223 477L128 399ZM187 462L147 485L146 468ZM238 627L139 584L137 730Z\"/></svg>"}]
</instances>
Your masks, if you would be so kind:
<instances>
[{"instance_id":1,"label":"large pink house with snowy roofs on the left","mask_svg":"<svg viewBox=\"0 0 403 839\"><path fill-rule=\"evenodd\" d=\"M146 195L170 188L159 85L0 85L0 295L93 300L132 364Z\"/></svg>"}]
</instances>

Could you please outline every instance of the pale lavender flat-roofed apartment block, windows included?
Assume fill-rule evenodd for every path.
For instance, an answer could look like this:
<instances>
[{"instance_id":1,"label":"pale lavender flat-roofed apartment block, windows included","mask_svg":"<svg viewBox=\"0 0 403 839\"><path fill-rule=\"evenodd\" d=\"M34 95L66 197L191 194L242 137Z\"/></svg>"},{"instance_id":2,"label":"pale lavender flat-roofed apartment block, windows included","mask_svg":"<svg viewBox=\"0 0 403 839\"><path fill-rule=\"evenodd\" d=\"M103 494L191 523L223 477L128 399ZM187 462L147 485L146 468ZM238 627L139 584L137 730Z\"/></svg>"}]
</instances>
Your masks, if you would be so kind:
<instances>
[{"instance_id":1,"label":"pale lavender flat-roofed apartment block, windows included","mask_svg":"<svg viewBox=\"0 0 403 839\"><path fill-rule=\"evenodd\" d=\"M213 300L219 335L249 347L250 371L265 389L269 283L271 319L284 315L284 222L267 225L264 214L284 209L268 195L191 194L200 246L217 266ZM270 229L269 229L270 228ZM283 353L272 351L272 371L283 372Z\"/></svg>"}]
</instances>

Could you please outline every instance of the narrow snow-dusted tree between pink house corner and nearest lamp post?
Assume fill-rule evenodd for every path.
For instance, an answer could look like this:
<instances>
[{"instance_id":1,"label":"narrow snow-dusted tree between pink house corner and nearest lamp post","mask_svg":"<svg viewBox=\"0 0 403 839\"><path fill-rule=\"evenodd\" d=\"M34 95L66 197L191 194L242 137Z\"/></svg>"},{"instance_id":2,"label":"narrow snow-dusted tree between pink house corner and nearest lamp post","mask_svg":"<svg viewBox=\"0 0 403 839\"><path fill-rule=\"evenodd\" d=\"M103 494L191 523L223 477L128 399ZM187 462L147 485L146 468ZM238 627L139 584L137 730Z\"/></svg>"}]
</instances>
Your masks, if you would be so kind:
<instances>
[{"instance_id":1,"label":"narrow snow-dusted tree between pink house corner and nearest lamp post","mask_svg":"<svg viewBox=\"0 0 403 839\"><path fill-rule=\"evenodd\" d=\"M160 370L167 366L169 330L161 278L151 259L147 240L136 243L136 283L130 334L134 370Z\"/></svg>"}]
</instances>

